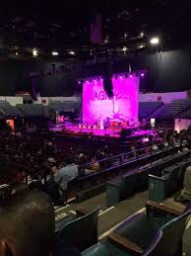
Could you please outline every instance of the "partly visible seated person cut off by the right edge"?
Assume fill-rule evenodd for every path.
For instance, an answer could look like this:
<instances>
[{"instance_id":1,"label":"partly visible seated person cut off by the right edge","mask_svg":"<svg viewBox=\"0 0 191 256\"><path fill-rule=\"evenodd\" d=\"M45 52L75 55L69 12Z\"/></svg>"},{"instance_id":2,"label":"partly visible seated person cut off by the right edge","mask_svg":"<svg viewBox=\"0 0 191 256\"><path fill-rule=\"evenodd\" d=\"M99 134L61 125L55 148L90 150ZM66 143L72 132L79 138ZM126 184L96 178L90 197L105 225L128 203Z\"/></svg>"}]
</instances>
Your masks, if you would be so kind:
<instances>
[{"instance_id":1,"label":"partly visible seated person cut off by the right edge","mask_svg":"<svg viewBox=\"0 0 191 256\"><path fill-rule=\"evenodd\" d=\"M175 197L176 202L188 202L191 201L191 166L186 168L183 181L183 190L181 195Z\"/></svg>"}]
</instances>

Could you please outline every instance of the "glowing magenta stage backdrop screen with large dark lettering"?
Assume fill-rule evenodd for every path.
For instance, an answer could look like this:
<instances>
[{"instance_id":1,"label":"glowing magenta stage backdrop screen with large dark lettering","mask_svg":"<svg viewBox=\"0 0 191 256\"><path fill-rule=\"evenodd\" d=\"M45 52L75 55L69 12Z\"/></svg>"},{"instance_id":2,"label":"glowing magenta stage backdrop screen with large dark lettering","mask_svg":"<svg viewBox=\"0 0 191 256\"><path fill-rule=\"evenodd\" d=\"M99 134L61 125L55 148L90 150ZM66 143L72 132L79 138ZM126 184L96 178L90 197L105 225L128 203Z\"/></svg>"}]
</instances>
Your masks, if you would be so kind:
<instances>
[{"instance_id":1,"label":"glowing magenta stage backdrop screen with large dark lettering","mask_svg":"<svg viewBox=\"0 0 191 256\"><path fill-rule=\"evenodd\" d=\"M83 84L83 120L94 124L105 120L138 120L139 77L112 78L113 98L103 89L103 80L86 80Z\"/></svg>"}]
</instances>

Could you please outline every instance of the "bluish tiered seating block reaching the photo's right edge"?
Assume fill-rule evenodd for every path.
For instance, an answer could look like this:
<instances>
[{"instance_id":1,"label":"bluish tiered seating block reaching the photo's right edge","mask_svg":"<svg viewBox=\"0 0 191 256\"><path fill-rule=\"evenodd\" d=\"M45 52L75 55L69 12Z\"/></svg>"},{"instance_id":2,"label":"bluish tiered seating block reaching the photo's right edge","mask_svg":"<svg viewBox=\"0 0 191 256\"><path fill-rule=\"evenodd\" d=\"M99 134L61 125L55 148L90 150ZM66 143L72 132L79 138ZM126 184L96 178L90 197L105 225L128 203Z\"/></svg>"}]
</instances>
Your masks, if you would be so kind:
<instances>
[{"instance_id":1,"label":"bluish tiered seating block reaching the photo's right edge","mask_svg":"<svg viewBox=\"0 0 191 256\"><path fill-rule=\"evenodd\" d=\"M179 118L180 115L191 108L190 99L174 100L169 104L164 104L159 110L154 113L151 117L155 119L174 119Z\"/></svg>"}]
</instances>

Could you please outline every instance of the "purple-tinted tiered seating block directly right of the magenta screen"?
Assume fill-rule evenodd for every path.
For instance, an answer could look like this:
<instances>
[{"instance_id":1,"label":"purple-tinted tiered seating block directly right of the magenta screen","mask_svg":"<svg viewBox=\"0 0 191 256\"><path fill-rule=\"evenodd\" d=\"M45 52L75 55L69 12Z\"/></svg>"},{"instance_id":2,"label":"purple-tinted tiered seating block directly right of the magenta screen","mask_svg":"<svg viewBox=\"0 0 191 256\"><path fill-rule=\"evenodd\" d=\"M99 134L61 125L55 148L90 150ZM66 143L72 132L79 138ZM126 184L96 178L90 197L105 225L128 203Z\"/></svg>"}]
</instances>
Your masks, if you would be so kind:
<instances>
[{"instance_id":1,"label":"purple-tinted tiered seating block directly right of the magenta screen","mask_svg":"<svg viewBox=\"0 0 191 256\"><path fill-rule=\"evenodd\" d=\"M154 112L156 112L159 107L162 106L162 102L140 102L139 103L139 119L147 119Z\"/></svg>"}]
</instances>

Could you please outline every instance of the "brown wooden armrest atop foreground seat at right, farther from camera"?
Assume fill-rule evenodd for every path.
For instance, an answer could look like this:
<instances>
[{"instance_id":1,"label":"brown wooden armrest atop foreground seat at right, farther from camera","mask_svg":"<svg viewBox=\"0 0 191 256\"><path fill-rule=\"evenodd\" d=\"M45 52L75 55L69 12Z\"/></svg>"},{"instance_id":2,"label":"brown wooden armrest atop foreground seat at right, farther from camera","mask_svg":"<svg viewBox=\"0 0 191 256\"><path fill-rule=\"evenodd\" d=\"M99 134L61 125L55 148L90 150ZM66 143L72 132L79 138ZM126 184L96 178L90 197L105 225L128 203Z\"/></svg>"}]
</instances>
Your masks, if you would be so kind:
<instances>
[{"instance_id":1,"label":"brown wooden armrest atop foreground seat at right, farther from camera","mask_svg":"<svg viewBox=\"0 0 191 256\"><path fill-rule=\"evenodd\" d=\"M152 212L158 212L158 213L168 213L170 215L175 215L175 216L181 215L181 212L154 201L148 201L146 203L146 210L147 210L147 213L149 213L149 211L152 211Z\"/></svg>"}]
</instances>

